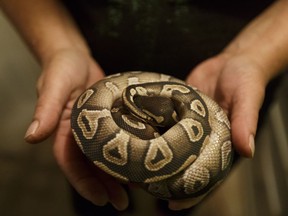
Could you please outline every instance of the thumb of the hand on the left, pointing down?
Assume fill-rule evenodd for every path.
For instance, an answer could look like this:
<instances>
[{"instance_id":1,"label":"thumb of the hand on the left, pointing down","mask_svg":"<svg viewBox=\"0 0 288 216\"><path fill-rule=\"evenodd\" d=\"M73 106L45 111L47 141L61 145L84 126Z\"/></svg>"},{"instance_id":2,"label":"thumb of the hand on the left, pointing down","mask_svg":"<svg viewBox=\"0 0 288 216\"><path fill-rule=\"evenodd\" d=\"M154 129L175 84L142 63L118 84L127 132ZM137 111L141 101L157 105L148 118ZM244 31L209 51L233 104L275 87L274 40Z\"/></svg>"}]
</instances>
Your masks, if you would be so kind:
<instances>
[{"instance_id":1,"label":"thumb of the hand on the left, pointing down","mask_svg":"<svg viewBox=\"0 0 288 216\"><path fill-rule=\"evenodd\" d=\"M41 142L53 133L69 98L70 89L54 74L44 72L38 81L38 101L24 137L28 143Z\"/></svg>"}]
</instances>

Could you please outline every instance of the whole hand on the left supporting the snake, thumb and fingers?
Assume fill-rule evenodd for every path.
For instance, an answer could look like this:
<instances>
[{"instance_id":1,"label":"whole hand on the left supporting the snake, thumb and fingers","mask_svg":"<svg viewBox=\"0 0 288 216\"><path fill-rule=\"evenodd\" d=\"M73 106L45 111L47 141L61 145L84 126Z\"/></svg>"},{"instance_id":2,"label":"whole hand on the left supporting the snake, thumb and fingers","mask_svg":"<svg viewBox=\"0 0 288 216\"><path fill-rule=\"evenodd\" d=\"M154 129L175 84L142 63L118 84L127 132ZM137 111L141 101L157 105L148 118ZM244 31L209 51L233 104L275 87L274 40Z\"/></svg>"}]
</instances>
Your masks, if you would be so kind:
<instances>
[{"instance_id":1,"label":"whole hand on the left supporting the snake, thumb and fingers","mask_svg":"<svg viewBox=\"0 0 288 216\"><path fill-rule=\"evenodd\" d=\"M92 57L77 49L60 50L43 62L37 83L38 101L25 140L38 143L54 134L54 155L80 195L95 205L128 206L128 196L114 178L89 162L71 133L71 109L77 97L104 73Z\"/></svg>"}]
</instances>

